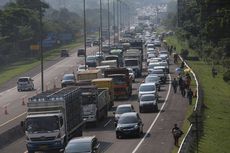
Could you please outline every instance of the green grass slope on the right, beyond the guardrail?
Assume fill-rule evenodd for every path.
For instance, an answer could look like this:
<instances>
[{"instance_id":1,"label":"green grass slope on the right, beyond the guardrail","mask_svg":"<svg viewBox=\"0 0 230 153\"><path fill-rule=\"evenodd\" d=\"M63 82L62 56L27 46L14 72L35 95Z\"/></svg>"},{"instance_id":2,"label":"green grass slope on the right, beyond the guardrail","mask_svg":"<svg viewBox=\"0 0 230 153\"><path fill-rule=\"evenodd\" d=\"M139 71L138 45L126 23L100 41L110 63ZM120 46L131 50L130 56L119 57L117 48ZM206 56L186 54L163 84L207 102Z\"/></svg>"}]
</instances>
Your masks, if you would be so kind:
<instances>
[{"instance_id":1,"label":"green grass slope on the right, beyond the guardrail","mask_svg":"<svg viewBox=\"0 0 230 153\"><path fill-rule=\"evenodd\" d=\"M177 51L187 48L186 43L178 41L176 37L169 37L167 42L175 45ZM190 49L191 55L195 55ZM211 65L203 61L188 61L194 72L198 75L201 86L204 90L204 120L203 136L199 141L199 152L201 153L227 153L230 149L230 85L222 79L223 69L218 66L216 78L211 76ZM192 112L188 109L187 116ZM187 120L187 119L186 119ZM183 129L187 127L184 121ZM186 130L185 130L186 131ZM173 152L176 152L175 148ZM195 152L195 151L194 151Z\"/></svg>"}]
</instances>

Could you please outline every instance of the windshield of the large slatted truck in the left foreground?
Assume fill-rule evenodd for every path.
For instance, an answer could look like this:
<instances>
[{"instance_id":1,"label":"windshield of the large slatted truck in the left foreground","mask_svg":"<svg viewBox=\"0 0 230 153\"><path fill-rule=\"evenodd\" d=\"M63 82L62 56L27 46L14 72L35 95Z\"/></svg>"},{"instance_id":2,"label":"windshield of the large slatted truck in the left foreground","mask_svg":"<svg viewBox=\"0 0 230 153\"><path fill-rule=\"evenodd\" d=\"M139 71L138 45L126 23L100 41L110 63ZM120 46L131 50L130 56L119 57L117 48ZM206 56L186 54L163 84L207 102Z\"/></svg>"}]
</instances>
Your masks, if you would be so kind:
<instances>
[{"instance_id":1,"label":"windshield of the large slatted truck in the left foreground","mask_svg":"<svg viewBox=\"0 0 230 153\"><path fill-rule=\"evenodd\" d=\"M57 116L31 117L25 122L25 129L30 133L54 131L59 129L59 119Z\"/></svg>"}]
</instances>

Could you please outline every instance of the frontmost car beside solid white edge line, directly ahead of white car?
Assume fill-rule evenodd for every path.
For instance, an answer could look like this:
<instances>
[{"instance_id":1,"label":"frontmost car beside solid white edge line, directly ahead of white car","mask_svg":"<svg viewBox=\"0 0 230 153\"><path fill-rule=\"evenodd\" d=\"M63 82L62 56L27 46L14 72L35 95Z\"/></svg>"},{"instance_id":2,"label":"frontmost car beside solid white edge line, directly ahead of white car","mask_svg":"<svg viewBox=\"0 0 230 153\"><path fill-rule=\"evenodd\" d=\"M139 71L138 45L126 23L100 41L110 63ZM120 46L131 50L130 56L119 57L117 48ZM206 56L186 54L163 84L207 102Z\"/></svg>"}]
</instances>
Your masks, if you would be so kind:
<instances>
[{"instance_id":1,"label":"frontmost car beside solid white edge line, directly ahead of white car","mask_svg":"<svg viewBox=\"0 0 230 153\"><path fill-rule=\"evenodd\" d=\"M142 113L145 110L158 111L157 97L155 94L142 95L139 101L139 111Z\"/></svg>"}]
</instances>

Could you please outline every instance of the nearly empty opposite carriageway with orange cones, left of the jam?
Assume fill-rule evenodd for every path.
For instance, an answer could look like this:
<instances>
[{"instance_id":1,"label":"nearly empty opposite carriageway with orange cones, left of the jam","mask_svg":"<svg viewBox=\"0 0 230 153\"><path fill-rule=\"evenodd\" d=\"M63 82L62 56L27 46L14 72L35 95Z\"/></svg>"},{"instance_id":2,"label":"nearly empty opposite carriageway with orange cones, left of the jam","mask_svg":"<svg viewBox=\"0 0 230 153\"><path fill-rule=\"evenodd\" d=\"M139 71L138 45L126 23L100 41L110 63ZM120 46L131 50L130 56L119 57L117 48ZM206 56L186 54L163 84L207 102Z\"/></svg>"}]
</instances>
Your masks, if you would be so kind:
<instances>
[{"instance_id":1,"label":"nearly empty opposite carriageway with orange cones, left of the jam","mask_svg":"<svg viewBox=\"0 0 230 153\"><path fill-rule=\"evenodd\" d=\"M87 49L88 54L92 54L98 47L91 47ZM76 50L76 49L75 49ZM84 57L77 57L76 52L70 57L64 58L44 71L44 90L61 86L61 79L64 73L72 73L77 70L77 65L84 63ZM29 97L41 92L41 76L40 70L33 72L31 75L35 90L28 92L18 92L16 81L14 87L9 88L0 93L0 133L6 131L15 124L19 124L24 118L26 112L26 103ZM24 105L25 104L25 105Z\"/></svg>"}]
</instances>

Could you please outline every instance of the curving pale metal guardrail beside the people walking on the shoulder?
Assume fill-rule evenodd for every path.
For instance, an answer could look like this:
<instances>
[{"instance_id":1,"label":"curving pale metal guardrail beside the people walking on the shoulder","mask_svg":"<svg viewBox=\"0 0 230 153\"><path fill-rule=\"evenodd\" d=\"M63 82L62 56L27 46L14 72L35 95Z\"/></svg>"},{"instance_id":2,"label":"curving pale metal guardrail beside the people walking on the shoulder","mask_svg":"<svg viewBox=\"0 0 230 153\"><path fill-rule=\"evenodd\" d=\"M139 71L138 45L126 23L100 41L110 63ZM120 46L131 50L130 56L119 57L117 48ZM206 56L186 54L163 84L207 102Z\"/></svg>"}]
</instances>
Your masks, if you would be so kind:
<instances>
[{"instance_id":1,"label":"curving pale metal guardrail beside the people walking on the shoulder","mask_svg":"<svg viewBox=\"0 0 230 153\"><path fill-rule=\"evenodd\" d=\"M191 67L188 63L183 60L181 56L179 56L180 60L185 63L185 66L191 70L191 73L196 81L196 102L193 109L193 113L190 118L191 125L186 132L185 137L183 138L180 148L177 153L189 153L194 152L196 149L198 152L198 139L199 139L199 129L200 129L200 121L199 118L201 117L202 113L202 104L203 104L203 90L201 85L197 79L196 74L193 72Z\"/></svg>"}]
</instances>

